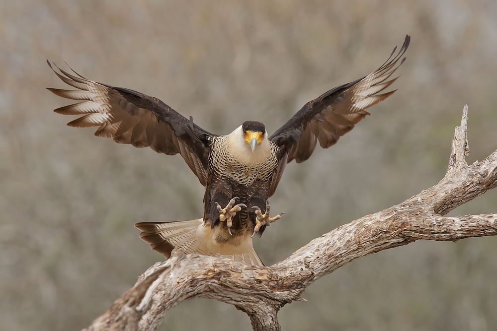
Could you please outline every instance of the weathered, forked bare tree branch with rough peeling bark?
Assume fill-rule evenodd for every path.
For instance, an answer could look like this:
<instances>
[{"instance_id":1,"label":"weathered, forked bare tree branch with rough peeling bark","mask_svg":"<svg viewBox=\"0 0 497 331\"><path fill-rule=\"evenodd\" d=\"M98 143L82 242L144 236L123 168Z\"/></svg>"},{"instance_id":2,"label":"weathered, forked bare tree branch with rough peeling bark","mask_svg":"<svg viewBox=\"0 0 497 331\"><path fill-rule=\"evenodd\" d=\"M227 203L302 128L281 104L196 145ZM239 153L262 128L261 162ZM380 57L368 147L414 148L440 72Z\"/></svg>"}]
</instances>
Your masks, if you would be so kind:
<instances>
[{"instance_id":1,"label":"weathered, forked bare tree branch with rough peeling bark","mask_svg":"<svg viewBox=\"0 0 497 331\"><path fill-rule=\"evenodd\" d=\"M229 260L173 251L150 267L86 330L155 330L186 299L204 297L235 305L253 330L280 330L277 312L302 300L316 279L350 261L419 239L451 240L497 234L497 214L444 217L497 185L497 151L469 166L467 106L457 127L445 177L435 186L391 208L342 225L316 238L286 260L250 267Z\"/></svg>"}]
</instances>

